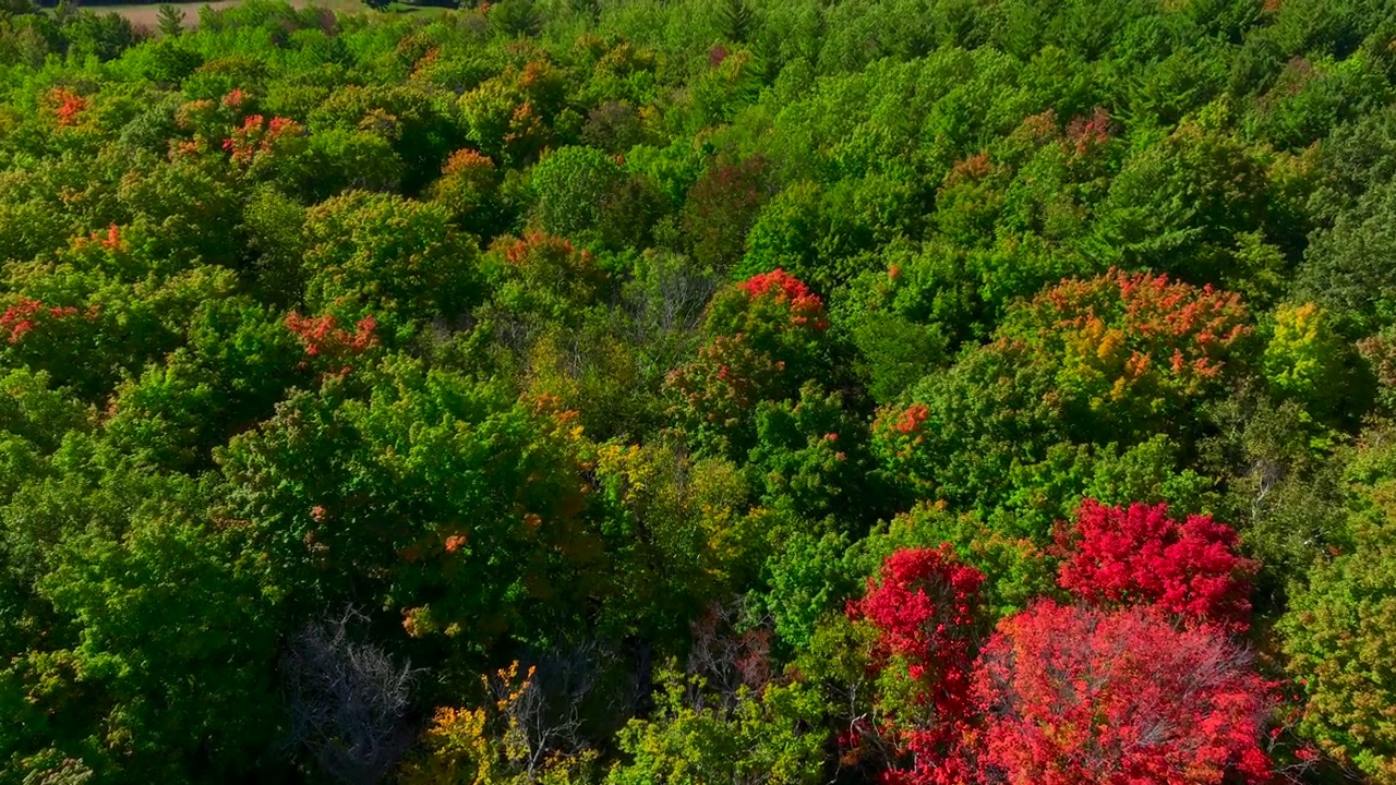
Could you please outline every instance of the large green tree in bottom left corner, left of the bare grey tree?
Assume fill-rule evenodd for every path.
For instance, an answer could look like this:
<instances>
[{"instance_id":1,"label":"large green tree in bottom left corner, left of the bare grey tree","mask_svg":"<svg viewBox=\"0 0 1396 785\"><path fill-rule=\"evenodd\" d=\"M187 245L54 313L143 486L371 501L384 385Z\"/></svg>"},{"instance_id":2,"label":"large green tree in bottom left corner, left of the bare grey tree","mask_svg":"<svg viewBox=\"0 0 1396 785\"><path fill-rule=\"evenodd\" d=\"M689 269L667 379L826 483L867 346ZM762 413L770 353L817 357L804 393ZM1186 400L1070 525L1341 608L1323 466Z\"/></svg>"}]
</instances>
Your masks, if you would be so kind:
<instances>
[{"instance_id":1,"label":"large green tree in bottom left corner, left of the bare grey tree","mask_svg":"<svg viewBox=\"0 0 1396 785\"><path fill-rule=\"evenodd\" d=\"M261 567L215 524L207 486L113 458L70 439L0 514L7 573L28 580L28 645L0 670L7 775L276 771L279 616Z\"/></svg>"}]
</instances>

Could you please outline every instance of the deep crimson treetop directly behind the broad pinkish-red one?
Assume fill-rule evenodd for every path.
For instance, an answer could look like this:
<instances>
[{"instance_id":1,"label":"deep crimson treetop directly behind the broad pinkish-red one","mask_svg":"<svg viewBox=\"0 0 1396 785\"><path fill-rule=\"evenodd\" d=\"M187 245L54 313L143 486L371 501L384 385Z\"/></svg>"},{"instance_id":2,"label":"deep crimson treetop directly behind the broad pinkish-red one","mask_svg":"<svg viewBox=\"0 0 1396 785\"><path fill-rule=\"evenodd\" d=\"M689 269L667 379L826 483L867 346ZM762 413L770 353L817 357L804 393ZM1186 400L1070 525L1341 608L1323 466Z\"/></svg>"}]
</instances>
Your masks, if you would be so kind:
<instances>
[{"instance_id":1,"label":"deep crimson treetop directly behind the broad pinkish-red one","mask_svg":"<svg viewBox=\"0 0 1396 785\"><path fill-rule=\"evenodd\" d=\"M1259 563L1235 553L1235 531L1210 515L1168 517L1167 504L1082 501L1057 529L1060 585L1097 605L1152 603L1188 623L1244 631Z\"/></svg>"}]
</instances>

